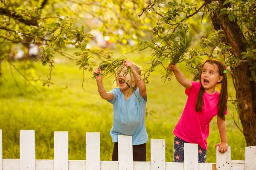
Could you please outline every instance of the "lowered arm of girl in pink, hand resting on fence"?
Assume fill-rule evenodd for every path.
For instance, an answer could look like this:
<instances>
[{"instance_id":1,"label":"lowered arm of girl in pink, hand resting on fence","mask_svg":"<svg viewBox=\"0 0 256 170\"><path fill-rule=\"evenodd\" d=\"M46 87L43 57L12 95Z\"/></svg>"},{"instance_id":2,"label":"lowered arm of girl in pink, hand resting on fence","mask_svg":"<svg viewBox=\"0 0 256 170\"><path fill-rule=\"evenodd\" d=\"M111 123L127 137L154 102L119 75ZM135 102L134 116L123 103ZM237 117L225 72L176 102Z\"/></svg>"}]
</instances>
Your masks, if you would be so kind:
<instances>
[{"instance_id":1,"label":"lowered arm of girl in pink, hand resting on fence","mask_svg":"<svg viewBox=\"0 0 256 170\"><path fill-rule=\"evenodd\" d=\"M218 130L220 133L221 137L221 142L218 144L215 144L215 147L219 147L219 152L220 153L225 153L227 151L227 132L226 132L226 123L224 120L221 119L221 117L217 117L217 125L218 125Z\"/></svg>"}]
</instances>

